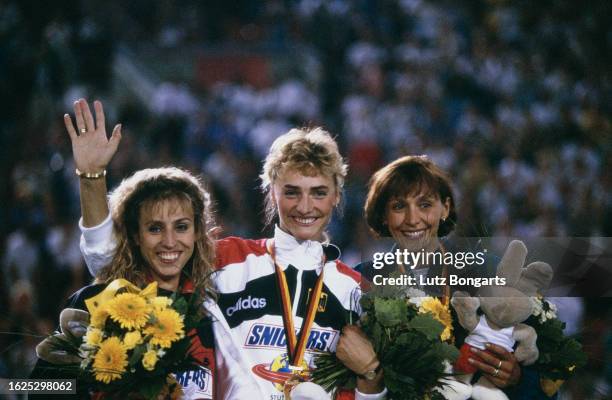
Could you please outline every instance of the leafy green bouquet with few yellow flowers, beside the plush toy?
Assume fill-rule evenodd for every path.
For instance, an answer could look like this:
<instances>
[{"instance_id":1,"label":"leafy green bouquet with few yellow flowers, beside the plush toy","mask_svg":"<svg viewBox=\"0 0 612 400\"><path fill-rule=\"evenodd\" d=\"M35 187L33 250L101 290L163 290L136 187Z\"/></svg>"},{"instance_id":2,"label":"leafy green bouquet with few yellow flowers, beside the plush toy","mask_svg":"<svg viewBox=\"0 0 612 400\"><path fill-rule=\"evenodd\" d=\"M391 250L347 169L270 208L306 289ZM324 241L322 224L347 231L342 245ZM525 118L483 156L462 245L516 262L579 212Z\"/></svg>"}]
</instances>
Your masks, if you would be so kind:
<instances>
[{"instance_id":1,"label":"leafy green bouquet with few yellow flowers, beside the plush toy","mask_svg":"<svg viewBox=\"0 0 612 400\"><path fill-rule=\"evenodd\" d=\"M448 305L416 290L375 286L361 297L359 325L372 342L384 370L389 398L443 399L448 362L459 355L452 340ZM356 377L335 356L315 358L313 382L325 390L354 388Z\"/></svg>"}]
</instances>

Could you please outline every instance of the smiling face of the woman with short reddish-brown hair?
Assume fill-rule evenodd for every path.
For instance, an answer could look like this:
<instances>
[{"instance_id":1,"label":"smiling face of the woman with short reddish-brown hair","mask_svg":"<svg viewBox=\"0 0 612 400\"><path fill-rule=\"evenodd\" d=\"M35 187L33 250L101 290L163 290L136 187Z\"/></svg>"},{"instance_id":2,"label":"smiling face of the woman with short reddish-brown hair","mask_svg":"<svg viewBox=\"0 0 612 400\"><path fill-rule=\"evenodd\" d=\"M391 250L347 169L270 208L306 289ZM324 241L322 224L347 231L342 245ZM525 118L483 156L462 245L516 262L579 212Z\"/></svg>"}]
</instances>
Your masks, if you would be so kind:
<instances>
[{"instance_id":1,"label":"smiling face of the woman with short reddish-brown hair","mask_svg":"<svg viewBox=\"0 0 612 400\"><path fill-rule=\"evenodd\" d=\"M433 250L438 244L440 220L448 218L450 199L421 190L404 197L392 197L386 206L384 223L403 249Z\"/></svg>"}]
</instances>

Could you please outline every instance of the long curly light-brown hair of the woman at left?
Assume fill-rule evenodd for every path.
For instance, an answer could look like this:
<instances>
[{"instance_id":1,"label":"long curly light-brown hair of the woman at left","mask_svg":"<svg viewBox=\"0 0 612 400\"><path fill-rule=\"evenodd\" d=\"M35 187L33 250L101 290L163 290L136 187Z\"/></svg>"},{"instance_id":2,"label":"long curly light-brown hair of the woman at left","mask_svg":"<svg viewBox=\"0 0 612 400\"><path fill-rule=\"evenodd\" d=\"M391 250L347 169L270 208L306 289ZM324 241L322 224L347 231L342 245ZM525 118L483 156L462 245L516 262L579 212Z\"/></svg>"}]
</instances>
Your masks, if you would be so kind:
<instances>
[{"instance_id":1,"label":"long curly light-brown hair of the woman at left","mask_svg":"<svg viewBox=\"0 0 612 400\"><path fill-rule=\"evenodd\" d=\"M99 280L124 278L140 287L146 284L146 263L136 243L140 210L172 199L190 204L194 214L195 249L182 273L191 279L200 295L214 295L210 275L214 271L215 245L210 232L215 223L210 195L198 178L174 167L140 170L110 194L117 250Z\"/></svg>"}]
</instances>

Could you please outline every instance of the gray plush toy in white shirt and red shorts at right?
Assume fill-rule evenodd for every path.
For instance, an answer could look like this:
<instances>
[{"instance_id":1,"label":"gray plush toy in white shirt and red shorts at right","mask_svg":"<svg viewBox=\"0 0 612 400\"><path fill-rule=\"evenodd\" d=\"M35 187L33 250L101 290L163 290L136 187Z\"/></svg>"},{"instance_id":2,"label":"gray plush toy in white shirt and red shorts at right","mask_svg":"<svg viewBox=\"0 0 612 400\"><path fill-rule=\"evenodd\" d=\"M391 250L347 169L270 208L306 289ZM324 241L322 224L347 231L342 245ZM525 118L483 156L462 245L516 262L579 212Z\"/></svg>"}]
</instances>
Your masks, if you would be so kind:
<instances>
[{"instance_id":1,"label":"gray plush toy in white shirt and red shorts at right","mask_svg":"<svg viewBox=\"0 0 612 400\"><path fill-rule=\"evenodd\" d=\"M533 312L532 297L545 290L553 276L550 265L534 262L523 268L527 248L523 242L514 240L508 246L504 257L497 266L497 276L505 278L505 286L483 286L477 297L465 292L455 292L451 304L457 312L459 323L468 332L461 355L454 365L456 382L448 385L442 394L449 400L507 400L508 397L486 376L474 385L470 381L476 367L468 363L475 358L470 347L485 350L485 343L497 344L514 352L517 361L524 365L538 359L535 330L523 324ZM481 309L482 315L477 310ZM516 350L514 345L518 343ZM461 384L458 384L461 383Z\"/></svg>"}]
</instances>

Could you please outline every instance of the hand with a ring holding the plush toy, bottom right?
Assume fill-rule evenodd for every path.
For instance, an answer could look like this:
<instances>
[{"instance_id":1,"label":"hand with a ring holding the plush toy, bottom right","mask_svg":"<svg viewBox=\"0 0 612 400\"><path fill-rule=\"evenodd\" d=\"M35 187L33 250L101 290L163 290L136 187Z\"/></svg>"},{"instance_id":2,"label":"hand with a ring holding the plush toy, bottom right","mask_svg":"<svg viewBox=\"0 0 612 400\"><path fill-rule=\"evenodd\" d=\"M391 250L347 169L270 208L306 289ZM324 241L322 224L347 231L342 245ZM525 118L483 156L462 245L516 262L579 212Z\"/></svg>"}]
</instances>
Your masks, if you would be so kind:
<instances>
[{"instance_id":1,"label":"hand with a ring holding the plush toy, bottom right","mask_svg":"<svg viewBox=\"0 0 612 400\"><path fill-rule=\"evenodd\" d=\"M514 354L496 344L487 343L487 351L472 348L474 354L482 361L470 358L472 365L478 368L495 386L503 389L516 385L521 379L521 366Z\"/></svg>"}]
</instances>

